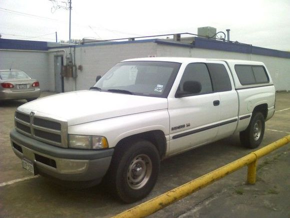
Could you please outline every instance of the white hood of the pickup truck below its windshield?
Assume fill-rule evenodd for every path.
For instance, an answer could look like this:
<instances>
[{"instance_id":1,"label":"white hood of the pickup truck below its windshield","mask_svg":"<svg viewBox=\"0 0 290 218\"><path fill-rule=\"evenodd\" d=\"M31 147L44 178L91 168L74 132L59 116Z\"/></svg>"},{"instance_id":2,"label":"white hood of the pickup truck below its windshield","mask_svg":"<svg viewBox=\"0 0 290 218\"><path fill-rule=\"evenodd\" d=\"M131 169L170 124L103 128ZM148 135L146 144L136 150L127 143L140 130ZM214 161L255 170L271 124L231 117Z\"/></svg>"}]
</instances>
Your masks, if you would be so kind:
<instances>
[{"instance_id":1,"label":"white hood of the pickup truck below its windshield","mask_svg":"<svg viewBox=\"0 0 290 218\"><path fill-rule=\"evenodd\" d=\"M167 109L167 99L99 91L75 91L40 98L18 111L67 121L68 126Z\"/></svg>"}]
</instances>

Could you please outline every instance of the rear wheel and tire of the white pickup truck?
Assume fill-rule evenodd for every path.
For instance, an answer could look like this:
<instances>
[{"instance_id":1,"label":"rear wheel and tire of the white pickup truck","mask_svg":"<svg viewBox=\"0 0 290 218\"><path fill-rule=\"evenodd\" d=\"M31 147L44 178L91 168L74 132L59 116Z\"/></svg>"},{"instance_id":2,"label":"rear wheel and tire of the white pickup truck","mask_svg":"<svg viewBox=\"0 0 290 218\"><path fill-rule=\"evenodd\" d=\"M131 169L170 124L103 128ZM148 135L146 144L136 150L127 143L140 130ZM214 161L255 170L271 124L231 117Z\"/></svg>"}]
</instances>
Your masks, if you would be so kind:
<instances>
[{"instance_id":1,"label":"rear wheel and tire of the white pickup truck","mask_svg":"<svg viewBox=\"0 0 290 218\"><path fill-rule=\"evenodd\" d=\"M254 113L248 127L239 133L239 139L243 146L257 148L264 136L265 119L262 113Z\"/></svg>"}]
</instances>

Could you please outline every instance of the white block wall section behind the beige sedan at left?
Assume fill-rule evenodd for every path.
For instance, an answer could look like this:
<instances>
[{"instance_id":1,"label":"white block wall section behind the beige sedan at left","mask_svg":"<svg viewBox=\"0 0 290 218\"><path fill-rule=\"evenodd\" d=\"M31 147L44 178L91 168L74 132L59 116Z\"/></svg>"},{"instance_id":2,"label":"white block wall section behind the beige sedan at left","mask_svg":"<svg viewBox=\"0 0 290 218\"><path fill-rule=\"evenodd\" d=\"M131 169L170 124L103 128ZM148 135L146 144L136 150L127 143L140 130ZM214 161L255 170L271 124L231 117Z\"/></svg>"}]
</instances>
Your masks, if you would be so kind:
<instances>
[{"instance_id":1,"label":"white block wall section behind the beige sedan at left","mask_svg":"<svg viewBox=\"0 0 290 218\"><path fill-rule=\"evenodd\" d=\"M0 50L0 70L22 70L40 83L42 91L50 90L48 54L46 51Z\"/></svg>"}]
</instances>

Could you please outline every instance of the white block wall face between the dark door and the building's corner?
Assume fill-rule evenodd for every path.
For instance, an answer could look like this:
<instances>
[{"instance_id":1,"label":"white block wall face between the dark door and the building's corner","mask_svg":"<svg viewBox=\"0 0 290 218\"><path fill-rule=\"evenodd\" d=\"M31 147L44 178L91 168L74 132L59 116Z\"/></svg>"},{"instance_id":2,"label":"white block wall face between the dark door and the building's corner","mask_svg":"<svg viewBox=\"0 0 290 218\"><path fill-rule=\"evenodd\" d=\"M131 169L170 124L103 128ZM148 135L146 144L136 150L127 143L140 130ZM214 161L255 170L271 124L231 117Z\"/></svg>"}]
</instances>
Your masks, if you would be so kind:
<instances>
[{"instance_id":1,"label":"white block wall face between the dark door and the building's corner","mask_svg":"<svg viewBox=\"0 0 290 218\"><path fill-rule=\"evenodd\" d=\"M77 70L76 83L73 78L64 79L64 91L88 89L94 85L96 76L104 75L118 62L155 55L155 50L155 43L77 47L75 48L75 65L82 65L82 71Z\"/></svg>"}]
</instances>

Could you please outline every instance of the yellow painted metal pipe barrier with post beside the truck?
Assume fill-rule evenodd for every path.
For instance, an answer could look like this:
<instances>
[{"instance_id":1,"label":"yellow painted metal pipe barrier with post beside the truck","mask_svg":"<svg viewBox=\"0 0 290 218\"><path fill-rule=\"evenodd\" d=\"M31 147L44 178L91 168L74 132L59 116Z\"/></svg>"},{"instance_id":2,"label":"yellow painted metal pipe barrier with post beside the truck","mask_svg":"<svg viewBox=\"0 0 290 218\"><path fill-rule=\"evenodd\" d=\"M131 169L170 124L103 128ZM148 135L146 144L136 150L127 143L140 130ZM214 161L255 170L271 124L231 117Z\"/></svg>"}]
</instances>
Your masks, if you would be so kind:
<instances>
[{"instance_id":1,"label":"yellow painted metal pipe barrier with post beside the truck","mask_svg":"<svg viewBox=\"0 0 290 218\"><path fill-rule=\"evenodd\" d=\"M243 156L227 165L224 165L218 169L215 169L203 176L200 176L192 181L189 181L179 187L176 187L166 193L163 193L157 197L154 197L144 203L141 203L135 207L132 207L126 211L123 211L114 217L145 217L159 209L193 193L194 191L205 187L206 185L218 180L229 173L248 165L247 182L250 184L255 183L256 173L256 160L269 152L287 144L290 142L290 135L287 135L259 150L256 150L246 156Z\"/></svg>"}]
</instances>

